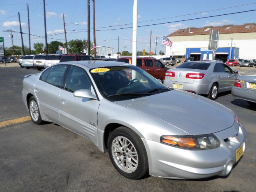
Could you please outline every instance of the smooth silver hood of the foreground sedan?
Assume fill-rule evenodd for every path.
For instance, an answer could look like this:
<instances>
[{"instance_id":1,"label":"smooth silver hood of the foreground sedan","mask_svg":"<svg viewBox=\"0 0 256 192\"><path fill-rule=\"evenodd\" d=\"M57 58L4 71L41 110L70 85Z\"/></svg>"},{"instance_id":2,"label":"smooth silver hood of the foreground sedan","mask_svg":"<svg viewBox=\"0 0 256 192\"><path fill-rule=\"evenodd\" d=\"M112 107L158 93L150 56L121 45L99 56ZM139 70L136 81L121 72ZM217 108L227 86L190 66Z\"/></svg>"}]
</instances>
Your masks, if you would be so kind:
<instances>
[{"instance_id":1,"label":"smooth silver hood of the foreground sedan","mask_svg":"<svg viewBox=\"0 0 256 192\"><path fill-rule=\"evenodd\" d=\"M148 114L191 135L224 130L234 124L235 118L235 114L221 104L180 90L115 103Z\"/></svg>"}]
</instances>

